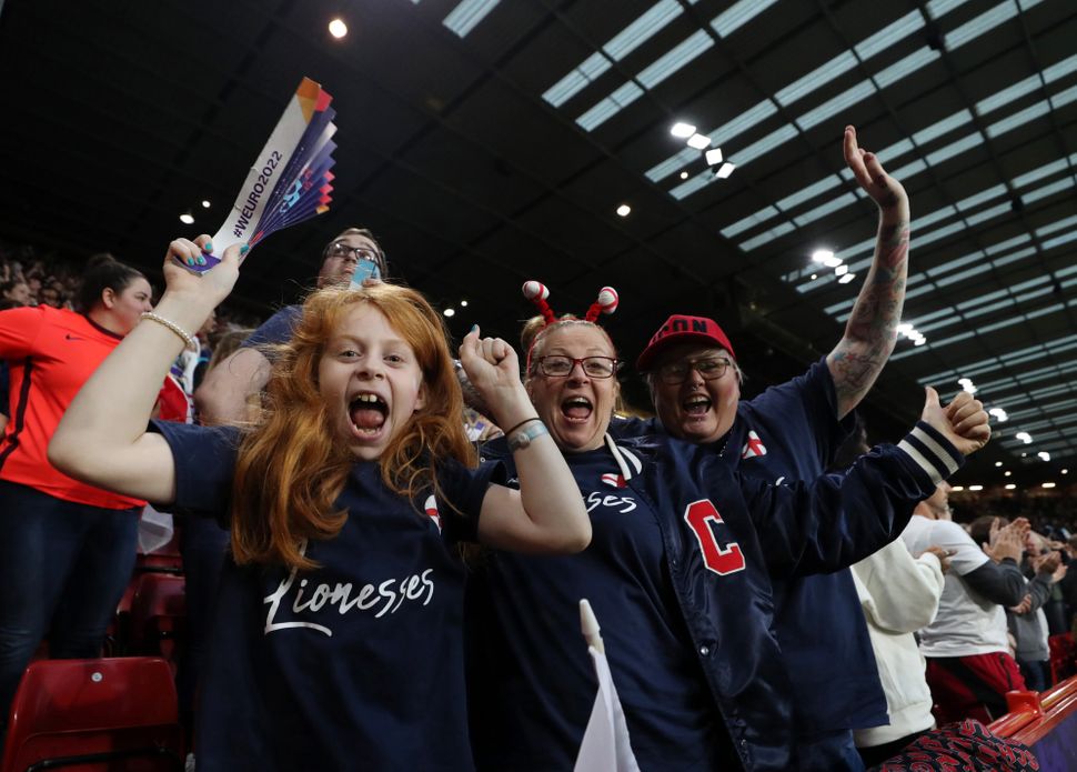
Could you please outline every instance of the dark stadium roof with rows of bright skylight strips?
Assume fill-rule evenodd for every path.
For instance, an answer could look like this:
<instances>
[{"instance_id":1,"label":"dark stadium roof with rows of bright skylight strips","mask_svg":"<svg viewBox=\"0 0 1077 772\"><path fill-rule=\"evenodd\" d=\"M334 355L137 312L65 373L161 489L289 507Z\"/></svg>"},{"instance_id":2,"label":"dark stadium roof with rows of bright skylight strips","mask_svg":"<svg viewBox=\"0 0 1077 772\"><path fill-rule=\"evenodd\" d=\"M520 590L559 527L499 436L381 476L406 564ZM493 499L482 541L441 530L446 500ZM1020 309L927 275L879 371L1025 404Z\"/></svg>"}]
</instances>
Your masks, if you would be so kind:
<instances>
[{"instance_id":1,"label":"dark stadium roof with rows of bright skylight strips","mask_svg":"<svg viewBox=\"0 0 1077 772\"><path fill-rule=\"evenodd\" d=\"M155 271L169 239L217 230L308 76L338 111L335 199L259 245L238 302L292 300L322 244L362 224L457 308L457 334L514 339L526 279L560 311L612 284L626 358L671 312L714 315L751 393L829 351L859 288L876 212L843 174L853 123L910 193L905 320L926 339L898 341L873 433L907 425L922 384L969 378L1008 421L963 481L1064 482L1075 40L1073 0L7 0L0 237ZM677 120L732 177L671 136ZM859 275L813 268L819 248Z\"/></svg>"}]
</instances>

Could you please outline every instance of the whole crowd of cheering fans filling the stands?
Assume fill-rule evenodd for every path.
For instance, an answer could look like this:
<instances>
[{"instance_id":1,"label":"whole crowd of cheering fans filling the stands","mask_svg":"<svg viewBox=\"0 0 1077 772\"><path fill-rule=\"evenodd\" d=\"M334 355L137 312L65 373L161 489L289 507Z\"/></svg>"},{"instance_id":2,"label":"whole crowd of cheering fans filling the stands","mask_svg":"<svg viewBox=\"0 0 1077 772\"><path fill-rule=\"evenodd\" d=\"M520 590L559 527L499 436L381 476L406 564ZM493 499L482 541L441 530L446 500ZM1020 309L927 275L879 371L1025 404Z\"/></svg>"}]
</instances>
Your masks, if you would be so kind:
<instances>
[{"instance_id":1,"label":"whole crowd of cheering fans filling the stands","mask_svg":"<svg viewBox=\"0 0 1077 772\"><path fill-rule=\"evenodd\" d=\"M844 150L879 227L834 349L745 400L719 322L670 309L634 362L653 419L618 412L618 351L644 341L601 324L610 288L563 314L527 282L519 349L473 329L453 351L365 229L250 335L212 322L245 247L199 277L209 237L172 241L157 303L108 257L77 291L6 261L0 715L42 639L100 652L147 502L188 542L199 769L573 769L597 689L584 598L643 770L900 764L1046 688L1068 534L949 518L983 405L928 389L896 444L856 432L909 202L852 127ZM361 261L382 280L350 288ZM473 443L465 415L500 431Z\"/></svg>"}]
</instances>

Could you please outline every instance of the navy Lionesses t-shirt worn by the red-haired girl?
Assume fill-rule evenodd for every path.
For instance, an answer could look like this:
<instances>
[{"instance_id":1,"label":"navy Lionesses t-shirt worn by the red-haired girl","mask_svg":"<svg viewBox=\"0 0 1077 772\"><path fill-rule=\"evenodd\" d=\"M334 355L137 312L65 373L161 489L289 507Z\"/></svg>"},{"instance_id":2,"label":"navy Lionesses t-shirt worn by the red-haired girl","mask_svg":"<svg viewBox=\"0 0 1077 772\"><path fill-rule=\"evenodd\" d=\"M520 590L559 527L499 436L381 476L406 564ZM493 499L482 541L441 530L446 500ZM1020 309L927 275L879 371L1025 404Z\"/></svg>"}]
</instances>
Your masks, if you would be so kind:
<instances>
[{"instance_id":1,"label":"navy Lionesses t-shirt worn by the red-haired girl","mask_svg":"<svg viewBox=\"0 0 1077 772\"><path fill-rule=\"evenodd\" d=\"M154 428L175 459L173 509L228 511L239 434ZM334 507L348 521L311 541L310 572L227 562L198 711L198 761L215 770L472 769L463 675L464 569L500 464L444 463L419 509L356 462Z\"/></svg>"}]
</instances>

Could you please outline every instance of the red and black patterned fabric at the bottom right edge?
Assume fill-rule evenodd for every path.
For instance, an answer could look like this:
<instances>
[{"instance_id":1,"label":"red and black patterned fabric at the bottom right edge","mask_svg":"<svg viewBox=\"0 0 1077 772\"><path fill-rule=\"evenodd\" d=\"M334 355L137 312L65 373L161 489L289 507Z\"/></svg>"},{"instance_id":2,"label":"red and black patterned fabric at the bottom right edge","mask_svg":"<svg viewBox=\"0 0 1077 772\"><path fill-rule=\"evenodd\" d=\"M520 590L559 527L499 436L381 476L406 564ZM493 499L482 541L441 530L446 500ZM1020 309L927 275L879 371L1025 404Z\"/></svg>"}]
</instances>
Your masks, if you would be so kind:
<instances>
[{"instance_id":1,"label":"red and black patterned fabric at the bottom right edge","mask_svg":"<svg viewBox=\"0 0 1077 772\"><path fill-rule=\"evenodd\" d=\"M1039 762L1024 744L992 734L975 719L947 724L887 759L873 772L1030 772Z\"/></svg>"}]
</instances>

